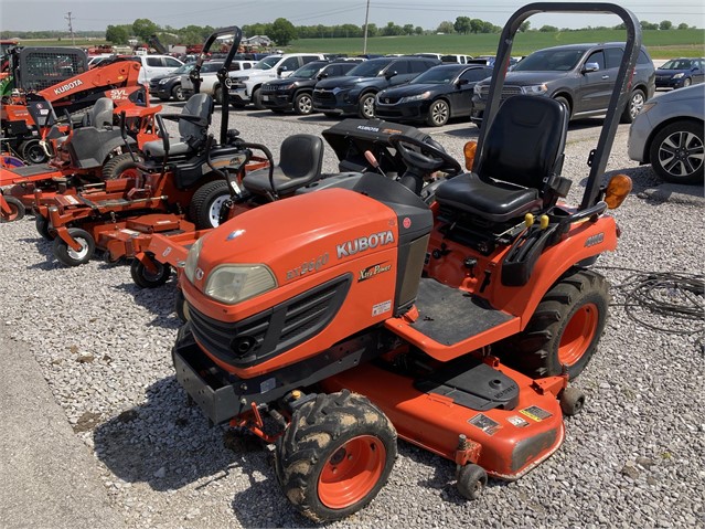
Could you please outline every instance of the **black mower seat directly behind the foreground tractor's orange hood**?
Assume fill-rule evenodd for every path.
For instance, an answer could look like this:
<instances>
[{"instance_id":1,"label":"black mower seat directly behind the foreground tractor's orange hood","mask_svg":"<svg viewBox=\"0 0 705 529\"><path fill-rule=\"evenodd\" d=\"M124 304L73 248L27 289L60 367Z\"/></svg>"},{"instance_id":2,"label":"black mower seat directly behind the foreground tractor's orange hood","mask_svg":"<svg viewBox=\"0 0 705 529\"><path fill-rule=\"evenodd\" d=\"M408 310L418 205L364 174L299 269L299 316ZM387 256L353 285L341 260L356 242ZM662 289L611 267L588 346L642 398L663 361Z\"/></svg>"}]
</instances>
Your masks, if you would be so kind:
<instances>
[{"instance_id":1,"label":"black mower seat directly behind the foreground tractor's orange hood","mask_svg":"<svg viewBox=\"0 0 705 529\"><path fill-rule=\"evenodd\" d=\"M321 178L323 140L310 134L295 134L281 144L279 165L274 168L274 181L279 197L292 194L297 189ZM243 186L254 194L274 194L269 169L248 172Z\"/></svg>"}]
</instances>

